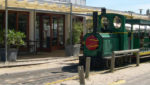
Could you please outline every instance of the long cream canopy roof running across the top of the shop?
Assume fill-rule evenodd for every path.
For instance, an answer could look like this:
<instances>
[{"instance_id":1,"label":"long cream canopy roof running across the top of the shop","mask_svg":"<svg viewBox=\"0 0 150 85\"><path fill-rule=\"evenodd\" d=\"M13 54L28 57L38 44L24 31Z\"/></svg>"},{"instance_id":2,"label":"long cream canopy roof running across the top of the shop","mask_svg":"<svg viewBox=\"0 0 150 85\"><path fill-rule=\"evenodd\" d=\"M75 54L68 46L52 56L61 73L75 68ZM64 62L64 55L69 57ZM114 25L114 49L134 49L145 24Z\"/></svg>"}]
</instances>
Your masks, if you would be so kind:
<instances>
[{"instance_id":1,"label":"long cream canopy roof running across the top of the shop","mask_svg":"<svg viewBox=\"0 0 150 85\"><path fill-rule=\"evenodd\" d=\"M52 12L62 12L70 13L70 3L58 3L58 2L38 2L37 0L8 0L9 9L26 9L26 10L42 10L42 11L52 11ZM0 0L0 9L5 9L5 0ZM91 15L93 11L101 12L101 7L91 7L91 6L81 6L73 5L72 12L84 15ZM117 11L117 10L107 10L107 13L117 13L131 17L131 14L128 12ZM136 19L149 19L148 16L132 14L133 18Z\"/></svg>"}]
</instances>

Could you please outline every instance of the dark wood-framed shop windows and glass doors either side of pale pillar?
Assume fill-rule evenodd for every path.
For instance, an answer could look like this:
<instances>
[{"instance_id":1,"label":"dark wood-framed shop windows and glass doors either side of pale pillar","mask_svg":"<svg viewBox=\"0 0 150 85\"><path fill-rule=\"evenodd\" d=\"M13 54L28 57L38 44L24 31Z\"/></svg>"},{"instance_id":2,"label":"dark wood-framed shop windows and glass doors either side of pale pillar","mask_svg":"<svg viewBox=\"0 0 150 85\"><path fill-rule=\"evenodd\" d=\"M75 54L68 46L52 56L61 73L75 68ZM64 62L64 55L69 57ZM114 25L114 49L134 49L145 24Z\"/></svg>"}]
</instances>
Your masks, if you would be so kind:
<instances>
[{"instance_id":1,"label":"dark wood-framed shop windows and glass doors either side of pale pillar","mask_svg":"<svg viewBox=\"0 0 150 85\"><path fill-rule=\"evenodd\" d=\"M65 43L65 15L37 13L36 27L30 28L30 12L9 11L8 13L8 29L21 31L25 33L26 42L20 51L29 51L33 48L31 43L34 42L37 51L50 52L64 48ZM5 28L5 11L0 11L0 29ZM30 29L35 32L30 33ZM31 40L30 36L35 36Z\"/></svg>"}]
</instances>

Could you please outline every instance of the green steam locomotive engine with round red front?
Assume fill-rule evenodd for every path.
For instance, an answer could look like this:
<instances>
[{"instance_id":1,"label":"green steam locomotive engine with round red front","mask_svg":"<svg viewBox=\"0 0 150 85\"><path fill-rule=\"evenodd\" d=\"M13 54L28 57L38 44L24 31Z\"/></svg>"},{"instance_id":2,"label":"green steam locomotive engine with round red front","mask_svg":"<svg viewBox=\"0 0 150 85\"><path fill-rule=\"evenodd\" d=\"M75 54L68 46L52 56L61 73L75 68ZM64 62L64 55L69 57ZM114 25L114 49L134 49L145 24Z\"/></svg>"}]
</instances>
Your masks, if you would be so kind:
<instances>
[{"instance_id":1,"label":"green steam locomotive engine with round red front","mask_svg":"<svg viewBox=\"0 0 150 85\"><path fill-rule=\"evenodd\" d=\"M126 17L113 13L93 13L94 29L84 36L83 57L80 63L85 63L86 57L91 57L91 65L100 66L112 51L128 49L128 33L125 29Z\"/></svg>"}]
</instances>

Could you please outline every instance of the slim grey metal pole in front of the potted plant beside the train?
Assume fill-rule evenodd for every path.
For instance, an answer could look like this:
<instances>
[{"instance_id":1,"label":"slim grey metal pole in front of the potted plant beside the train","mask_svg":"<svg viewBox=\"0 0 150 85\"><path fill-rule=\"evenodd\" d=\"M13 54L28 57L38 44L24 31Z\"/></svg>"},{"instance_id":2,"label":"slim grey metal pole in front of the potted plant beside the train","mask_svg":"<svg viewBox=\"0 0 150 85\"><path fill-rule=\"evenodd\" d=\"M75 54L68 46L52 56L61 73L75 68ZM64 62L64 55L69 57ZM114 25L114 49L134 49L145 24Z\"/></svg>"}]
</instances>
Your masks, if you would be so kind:
<instances>
[{"instance_id":1,"label":"slim grey metal pole in front of the potted plant beside the train","mask_svg":"<svg viewBox=\"0 0 150 85\"><path fill-rule=\"evenodd\" d=\"M73 56L73 46L72 46L72 3L70 3L70 45L71 45L71 56Z\"/></svg>"}]
</instances>

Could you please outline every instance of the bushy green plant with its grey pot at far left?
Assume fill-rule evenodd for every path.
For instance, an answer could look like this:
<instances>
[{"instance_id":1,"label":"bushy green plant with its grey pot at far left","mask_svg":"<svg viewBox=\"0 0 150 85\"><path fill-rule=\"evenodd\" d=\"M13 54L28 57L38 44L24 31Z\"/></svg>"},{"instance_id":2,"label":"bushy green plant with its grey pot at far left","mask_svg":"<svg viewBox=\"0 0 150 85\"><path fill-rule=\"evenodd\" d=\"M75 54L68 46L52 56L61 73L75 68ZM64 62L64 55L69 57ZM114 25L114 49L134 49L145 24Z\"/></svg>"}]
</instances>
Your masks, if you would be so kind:
<instances>
[{"instance_id":1,"label":"bushy green plant with its grey pot at far left","mask_svg":"<svg viewBox=\"0 0 150 85\"><path fill-rule=\"evenodd\" d=\"M15 30L8 30L8 35L7 35L7 46L8 46L7 60L8 61L16 61L19 46L25 44L23 38L25 38L24 33L16 32ZM0 60L6 61L4 30L0 31Z\"/></svg>"}]
</instances>

